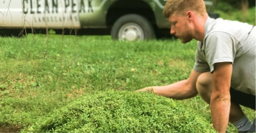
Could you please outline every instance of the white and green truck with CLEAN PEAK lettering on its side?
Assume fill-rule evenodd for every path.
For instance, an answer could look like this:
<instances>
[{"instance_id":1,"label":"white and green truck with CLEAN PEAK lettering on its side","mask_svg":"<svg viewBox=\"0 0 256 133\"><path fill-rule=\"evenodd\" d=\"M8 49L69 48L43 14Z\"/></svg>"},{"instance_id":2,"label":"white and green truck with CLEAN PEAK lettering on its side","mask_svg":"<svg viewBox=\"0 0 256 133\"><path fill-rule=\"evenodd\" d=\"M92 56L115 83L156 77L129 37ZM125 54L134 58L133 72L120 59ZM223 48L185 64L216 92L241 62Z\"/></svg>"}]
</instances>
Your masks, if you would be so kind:
<instances>
[{"instance_id":1,"label":"white and green truck with CLEAN PEAK lettering on its side","mask_svg":"<svg viewBox=\"0 0 256 133\"><path fill-rule=\"evenodd\" d=\"M0 0L0 34L55 30L147 40L169 34L166 0ZM211 13L213 1L205 1ZM67 30L68 29L68 30ZM16 32L15 32L16 31ZM68 32L63 32L68 31Z\"/></svg>"}]
</instances>

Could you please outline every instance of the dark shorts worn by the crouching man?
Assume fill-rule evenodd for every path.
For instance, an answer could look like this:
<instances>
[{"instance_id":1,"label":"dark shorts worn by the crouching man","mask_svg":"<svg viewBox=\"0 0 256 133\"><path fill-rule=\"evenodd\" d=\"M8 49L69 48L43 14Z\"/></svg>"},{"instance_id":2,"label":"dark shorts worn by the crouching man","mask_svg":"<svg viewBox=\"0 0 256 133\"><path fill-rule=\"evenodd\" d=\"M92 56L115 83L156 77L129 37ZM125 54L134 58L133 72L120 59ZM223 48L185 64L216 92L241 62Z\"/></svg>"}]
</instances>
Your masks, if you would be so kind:
<instances>
[{"instance_id":1,"label":"dark shorts worn by the crouching man","mask_svg":"<svg viewBox=\"0 0 256 133\"><path fill-rule=\"evenodd\" d=\"M255 110L255 96L252 94L246 94L243 92L236 91L233 88L230 88L230 97L231 101L238 103L239 105L252 108Z\"/></svg>"}]
</instances>

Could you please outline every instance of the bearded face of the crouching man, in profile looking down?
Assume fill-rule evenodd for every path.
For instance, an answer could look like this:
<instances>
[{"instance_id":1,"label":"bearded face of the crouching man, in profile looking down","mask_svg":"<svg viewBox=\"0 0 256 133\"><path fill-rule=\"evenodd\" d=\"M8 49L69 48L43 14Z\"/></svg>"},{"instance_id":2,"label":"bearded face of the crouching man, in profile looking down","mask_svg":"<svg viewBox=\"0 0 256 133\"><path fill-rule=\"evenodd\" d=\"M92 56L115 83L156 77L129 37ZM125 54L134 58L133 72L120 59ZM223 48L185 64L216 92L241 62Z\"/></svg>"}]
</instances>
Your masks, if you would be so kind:
<instances>
[{"instance_id":1,"label":"bearded face of the crouching man, in profile looking down","mask_svg":"<svg viewBox=\"0 0 256 133\"><path fill-rule=\"evenodd\" d=\"M189 27L189 20L186 15L173 13L168 18L171 27L170 34L175 35L182 43L187 43L193 39L192 30Z\"/></svg>"}]
</instances>

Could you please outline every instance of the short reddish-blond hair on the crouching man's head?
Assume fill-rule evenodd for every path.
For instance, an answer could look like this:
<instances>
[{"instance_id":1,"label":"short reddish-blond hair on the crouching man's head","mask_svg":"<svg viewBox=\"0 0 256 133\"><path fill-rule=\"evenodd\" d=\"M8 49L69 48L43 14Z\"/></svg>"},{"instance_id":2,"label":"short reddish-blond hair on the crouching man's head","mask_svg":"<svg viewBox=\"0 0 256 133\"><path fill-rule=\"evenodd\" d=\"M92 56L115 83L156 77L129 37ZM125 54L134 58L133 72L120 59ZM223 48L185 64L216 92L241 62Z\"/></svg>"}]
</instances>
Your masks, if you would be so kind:
<instances>
[{"instance_id":1,"label":"short reddish-blond hair on the crouching man's head","mask_svg":"<svg viewBox=\"0 0 256 133\"><path fill-rule=\"evenodd\" d=\"M168 0L165 3L163 15L168 18L173 13L184 14L188 10L195 11L201 16L207 13L203 0Z\"/></svg>"}]
</instances>

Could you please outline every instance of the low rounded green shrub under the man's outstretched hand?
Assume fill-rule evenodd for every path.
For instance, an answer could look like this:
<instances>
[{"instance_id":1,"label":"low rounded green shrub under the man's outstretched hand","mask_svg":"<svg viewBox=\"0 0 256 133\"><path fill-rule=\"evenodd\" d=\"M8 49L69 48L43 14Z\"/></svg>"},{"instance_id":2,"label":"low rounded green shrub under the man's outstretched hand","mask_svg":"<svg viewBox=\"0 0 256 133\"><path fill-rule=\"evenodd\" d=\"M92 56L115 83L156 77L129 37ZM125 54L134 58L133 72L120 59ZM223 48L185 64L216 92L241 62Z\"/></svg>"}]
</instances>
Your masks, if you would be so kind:
<instances>
[{"instance_id":1,"label":"low rounded green shrub under the man's outstretched hand","mask_svg":"<svg viewBox=\"0 0 256 133\"><path fill-rule=\"evenodd\" d=\"M96 91L21 132L214 132L188 105L152 93Z\"/></svg>"}]
</instances>

